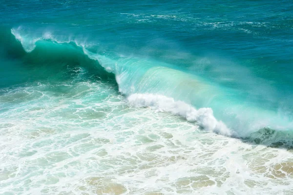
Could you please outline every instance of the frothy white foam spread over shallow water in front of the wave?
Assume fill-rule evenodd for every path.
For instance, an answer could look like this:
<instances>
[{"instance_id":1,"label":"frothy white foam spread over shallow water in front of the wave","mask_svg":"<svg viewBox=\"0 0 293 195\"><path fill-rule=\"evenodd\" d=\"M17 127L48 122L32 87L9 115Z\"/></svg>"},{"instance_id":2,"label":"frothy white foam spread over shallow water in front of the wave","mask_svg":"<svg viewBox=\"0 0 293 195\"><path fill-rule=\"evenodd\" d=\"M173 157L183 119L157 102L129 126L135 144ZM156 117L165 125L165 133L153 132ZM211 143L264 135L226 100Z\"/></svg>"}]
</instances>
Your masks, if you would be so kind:
<instances>
[{"instance_id":1,"label":"frothy white foam spread over shallow water in front of the wave","mask_svg":"<svg viewBox=\"0 0 293 195\"><path fill-rule=\"evenodd\" d=\"M128 98L138 107L163 111L154 112L128 107L106 83L58 85L69 94L52 94L52 86L43 84L0 96L3 193L293 193L291 151L204 133L196 123L167 113L194 109L171 98ZM12 100L16 104L5 104Z\"/></svg>"}]
</instances>

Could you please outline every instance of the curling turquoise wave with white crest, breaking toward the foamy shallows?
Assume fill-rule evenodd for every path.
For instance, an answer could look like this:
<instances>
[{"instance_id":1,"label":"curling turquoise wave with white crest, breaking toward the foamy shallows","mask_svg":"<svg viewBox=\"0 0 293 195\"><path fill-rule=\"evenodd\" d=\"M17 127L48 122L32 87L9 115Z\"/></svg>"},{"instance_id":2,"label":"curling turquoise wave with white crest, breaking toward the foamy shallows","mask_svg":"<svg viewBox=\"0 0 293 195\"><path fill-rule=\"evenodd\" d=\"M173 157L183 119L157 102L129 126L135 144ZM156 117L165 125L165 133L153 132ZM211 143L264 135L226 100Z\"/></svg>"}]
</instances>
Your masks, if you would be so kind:
<instances>
[{"instance_id":1,"label":"curling turquoise wave with white crest, breaking toward the foamy shallows","mask_svg":"<svg viewBox=\"0 0 293 195\"><path fill-rule=\"evenodd\" d=\"M267 139L263 136L267 134L264 128L273 131L272 135L275 131L282 131L276 139L288 138L288 135L288 139L292 138L292 134L288 134L293 130L290 117L248 102L233 89L211 83L171 64L97 54L86 44L54 39L50 33L34 39L22 36L18 29L1 30L1 33L1 58L14 59L19 62L16 66L21 64L21 68L30 69L26 76L21 74L13 82L8 79L9 74L16 73L8 69L2 71L1 76L7 77L2 87L43 78L70 79L75 73L72 68L71 72L68 71L68 66L82 67L94 73L93 79L116 81L131 106L180 115L206 131L246 137L258 143ZM260 137L263 140L259 141Z\"/></svg>"}]
</instances>

